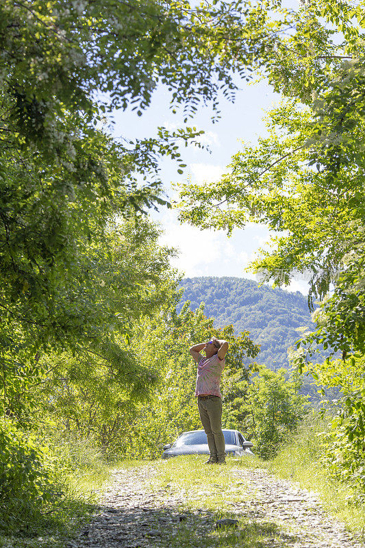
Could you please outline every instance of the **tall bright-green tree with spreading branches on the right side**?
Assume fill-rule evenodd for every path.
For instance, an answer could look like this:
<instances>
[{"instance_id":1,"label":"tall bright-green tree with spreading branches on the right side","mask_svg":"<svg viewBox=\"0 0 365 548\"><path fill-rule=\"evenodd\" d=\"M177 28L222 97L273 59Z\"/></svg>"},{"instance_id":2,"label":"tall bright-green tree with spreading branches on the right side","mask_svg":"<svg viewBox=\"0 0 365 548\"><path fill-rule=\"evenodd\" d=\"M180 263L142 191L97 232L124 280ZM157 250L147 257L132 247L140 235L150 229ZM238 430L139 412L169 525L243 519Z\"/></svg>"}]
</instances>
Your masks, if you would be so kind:
<instances>
[{"instance_id":1,"label":"tall bright-green tree with spreading branches on the right side","mask_svg":"<svg viewBox=\"0 0 365 548\"><path fill-rule=\"evenodd\" d=\"M288 284L298 272L311 274L310 307L313 297L322 302L314 313L316 329L299 343L297 361L328 382L323 371L333 375L333 365L329 359L312 364L314 343L342 352L344 363L335 362L329 386L344 388L346 395L339 402L340 429L333 424L336 439L328 462L338 477L360 479L355 483L362 489L364 7L363 1L305 3L294 16L294 32L277 37L266 64L270 83L284 95L268 115L268 138L255 147L245 145L214 186L181 188L181 219L194 225L231 232L256 221L282 231L252 264L267 281Z\"/></svg>"}]
</instances>

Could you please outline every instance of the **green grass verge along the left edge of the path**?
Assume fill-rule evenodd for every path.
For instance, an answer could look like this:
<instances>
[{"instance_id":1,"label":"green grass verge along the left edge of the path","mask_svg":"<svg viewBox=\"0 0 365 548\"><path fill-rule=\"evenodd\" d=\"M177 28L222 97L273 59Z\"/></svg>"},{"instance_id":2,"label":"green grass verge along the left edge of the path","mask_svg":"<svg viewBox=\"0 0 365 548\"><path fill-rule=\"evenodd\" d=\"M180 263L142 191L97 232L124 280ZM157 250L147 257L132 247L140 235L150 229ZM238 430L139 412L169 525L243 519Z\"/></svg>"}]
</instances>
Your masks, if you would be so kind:
<instances>
[{"instance_id":1,"label":"green grass verge along the left edge of the path","mask_svg":"<svg viewBox=\"0 0 365 548\"><path fill-rule=\"evenodd\" d=\"M60 497L29 508L26 515L16 513L14 501L12 512L4 516L5 529L0 523L0 548L64 548L64 539L95 511L114 466L103 461L90 440L58 440L53 451Z\"/></svg>"}]
</instances>

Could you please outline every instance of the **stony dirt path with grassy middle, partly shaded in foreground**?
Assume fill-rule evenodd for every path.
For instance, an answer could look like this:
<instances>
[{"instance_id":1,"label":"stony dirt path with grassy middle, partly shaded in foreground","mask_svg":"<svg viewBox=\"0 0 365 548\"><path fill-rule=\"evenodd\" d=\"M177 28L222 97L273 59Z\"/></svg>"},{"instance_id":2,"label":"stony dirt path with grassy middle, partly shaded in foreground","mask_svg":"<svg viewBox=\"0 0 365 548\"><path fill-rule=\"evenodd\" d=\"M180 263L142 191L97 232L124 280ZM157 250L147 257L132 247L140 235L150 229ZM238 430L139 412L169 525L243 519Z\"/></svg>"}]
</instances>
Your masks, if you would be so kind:
<instances>
[{"instance_id":1,"label":"stony dirt path with grassy middle, partly shaded in foreground","mask_svg":"<svg viewBox=\"0 0 365 548\"><path fill-rule=\"evenodd\" d=\"M228 471L227 471L228 473ZM313 493L260 469L231 468L230 487L158 484L152 465L118 470L99 512L69 548L364 548L320 508ZM198 487L197 487L198 486ZM222 512L205 506L221 497ZM216 530L231 516L238 528Z\"/></svg>"}]
</instances>

